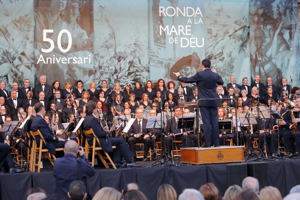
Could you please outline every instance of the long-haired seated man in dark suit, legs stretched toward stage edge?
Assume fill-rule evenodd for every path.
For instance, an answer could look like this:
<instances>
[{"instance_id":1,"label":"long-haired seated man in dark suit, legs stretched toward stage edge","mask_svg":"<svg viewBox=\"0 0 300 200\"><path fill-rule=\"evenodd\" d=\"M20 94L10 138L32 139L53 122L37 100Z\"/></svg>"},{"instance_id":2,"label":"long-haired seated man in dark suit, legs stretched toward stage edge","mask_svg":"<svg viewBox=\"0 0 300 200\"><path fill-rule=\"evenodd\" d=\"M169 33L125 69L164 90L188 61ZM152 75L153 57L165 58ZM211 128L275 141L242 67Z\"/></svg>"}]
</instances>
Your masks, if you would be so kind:
<instances>
[{"instance_id":1,"label":"long-haired seated man in dark suit, legs stretched toward stage edge","mask_svg":"<svg viewBox=\"0 0 300 200\"><path fill-rule=\"evenodd\" d=\"M121 138L110 138L107 137L109 135L108 131L104 131L99 123L99 119L96 118L97 115L97 105L94 101L88 101L85 105L85 118L82 122L82 129L83 130L90 130L93 129L94 133L98 137L100 141L100 145L103 151L106 152L113 152L113 162L115 163L116 167L122 167L121 162L122 158L126 160L126 166L129 167L139 167L140 165L135 164L132 162L132 158L134 154L128 148L128 145L125 143L124 139ZM93 138L92 134L88 135L88 145L93 145ZM96 142L96 146L99 146L98 142ZM116 146L116 148L112 148L112 146Z\"/></svg>"}]
</instances>

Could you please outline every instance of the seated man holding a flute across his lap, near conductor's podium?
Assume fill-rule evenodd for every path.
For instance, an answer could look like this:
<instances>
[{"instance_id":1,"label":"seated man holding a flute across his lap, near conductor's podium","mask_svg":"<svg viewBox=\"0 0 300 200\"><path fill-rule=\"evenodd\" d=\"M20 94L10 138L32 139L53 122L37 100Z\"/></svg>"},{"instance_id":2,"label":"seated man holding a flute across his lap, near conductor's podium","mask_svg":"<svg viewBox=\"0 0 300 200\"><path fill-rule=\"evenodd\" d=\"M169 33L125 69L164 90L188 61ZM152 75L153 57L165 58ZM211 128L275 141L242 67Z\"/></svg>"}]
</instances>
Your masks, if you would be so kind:
<instances>
[{"instance_id":1,"label":"seated man holding a flute across his lap, near conductor's podium","mask_svg":"<svg viewBox=\"0 0 300 200\"><path fill-rule=\"evenodd\" d=\"M182 115L182 109L179 106L175 106L173 109L174 117L168 119L167 121L167 144L168 144L168 153L171 153L173 148L173 141L180 140L183 142L184 147L196 147L197 146L197 136L190 131L190 129L182 130L177 129L177 124L179 117ZM179 134L178 134L179 133ZM178 134L178 135L175 135Z\"/></svg>"}]
</instances>

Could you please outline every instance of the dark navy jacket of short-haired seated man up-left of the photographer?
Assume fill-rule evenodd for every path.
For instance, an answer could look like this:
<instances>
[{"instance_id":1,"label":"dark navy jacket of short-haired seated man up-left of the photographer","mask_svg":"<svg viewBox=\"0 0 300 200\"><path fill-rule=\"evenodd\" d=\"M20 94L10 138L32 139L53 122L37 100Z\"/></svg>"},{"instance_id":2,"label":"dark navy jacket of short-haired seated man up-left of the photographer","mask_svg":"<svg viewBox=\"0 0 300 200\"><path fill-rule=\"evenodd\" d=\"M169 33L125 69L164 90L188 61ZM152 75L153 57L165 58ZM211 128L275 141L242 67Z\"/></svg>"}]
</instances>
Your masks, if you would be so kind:
<instances>
[{"instance_id":1,"label":"dark navy jacket of short-haired seated man up-left of the photographer","mask_svg":"<svg viewBox=\"0 0 300 200\"><path fill-rule=\"evenodd\" d=\"M32 124L31 124L31 130L32 130L32 132L40 130L45 139L46 148L49 150L49 152L51 154L56 153L53 142L58 142L58 138L51 133L47 122L41 115L35 116L35 118L32 121ZM41 137L35 136L35 139L37 140L37 143L39 145L39 141L40 141Z\"/></svg>"}]
</instances>

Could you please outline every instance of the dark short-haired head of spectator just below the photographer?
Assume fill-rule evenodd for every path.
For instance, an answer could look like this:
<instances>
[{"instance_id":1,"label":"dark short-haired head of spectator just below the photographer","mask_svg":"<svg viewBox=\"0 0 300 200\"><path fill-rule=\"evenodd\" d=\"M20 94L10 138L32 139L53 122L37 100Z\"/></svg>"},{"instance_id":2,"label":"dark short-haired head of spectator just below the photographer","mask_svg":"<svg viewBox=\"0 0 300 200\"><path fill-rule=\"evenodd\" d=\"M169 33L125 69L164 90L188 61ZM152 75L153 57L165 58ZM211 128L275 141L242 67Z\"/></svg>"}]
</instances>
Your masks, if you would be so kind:
<instances>
[{"instance_id":1,"label":"dark short-haired head of spectator just below the photographer","mask_svg":"<svg viewBox=\"0 0 300 200\"><path fill-rule=\"evenodd\" d=\"M82 181L73 181L70 184L68 197L72 200L86 199L85 185Z\"/></svg>"}]
</instances>

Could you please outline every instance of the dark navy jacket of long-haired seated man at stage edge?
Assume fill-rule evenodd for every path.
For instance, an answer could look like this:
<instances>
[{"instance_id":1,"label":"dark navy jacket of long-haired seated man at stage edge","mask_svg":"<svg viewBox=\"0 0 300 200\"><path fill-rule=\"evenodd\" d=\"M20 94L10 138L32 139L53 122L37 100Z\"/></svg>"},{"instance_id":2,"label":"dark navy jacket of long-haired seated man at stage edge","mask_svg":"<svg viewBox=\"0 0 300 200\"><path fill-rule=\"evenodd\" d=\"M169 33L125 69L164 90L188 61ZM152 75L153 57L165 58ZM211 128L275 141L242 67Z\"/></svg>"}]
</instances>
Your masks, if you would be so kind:
<instances>
[{"instance_id":1,"label":"dark navy jacket of long-haired seated man at stage edge","mask_svg":"<svg viewBox=\"0 0 300 200\"><path fill-rule=\"evenodd\" d=\"M82 122L82 129L83 130L90 130L93 129L96 136L99 138L100 145L103 148L103 151L112 152L112 140L110 138L107 138L107 135L109 134L108 131L104 131L99 123L99 119L96 118L94 115L85 115L84 121ZM93 138L94 136L92 134L89 134L88 144L93 145Z\"/></svg>"}]
</instances>

